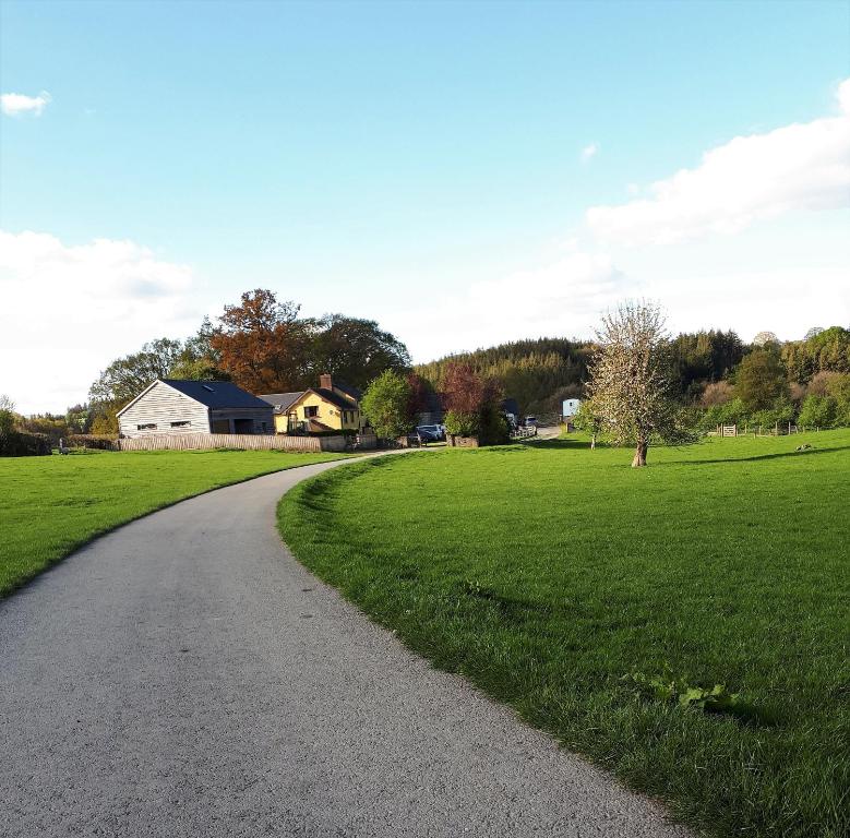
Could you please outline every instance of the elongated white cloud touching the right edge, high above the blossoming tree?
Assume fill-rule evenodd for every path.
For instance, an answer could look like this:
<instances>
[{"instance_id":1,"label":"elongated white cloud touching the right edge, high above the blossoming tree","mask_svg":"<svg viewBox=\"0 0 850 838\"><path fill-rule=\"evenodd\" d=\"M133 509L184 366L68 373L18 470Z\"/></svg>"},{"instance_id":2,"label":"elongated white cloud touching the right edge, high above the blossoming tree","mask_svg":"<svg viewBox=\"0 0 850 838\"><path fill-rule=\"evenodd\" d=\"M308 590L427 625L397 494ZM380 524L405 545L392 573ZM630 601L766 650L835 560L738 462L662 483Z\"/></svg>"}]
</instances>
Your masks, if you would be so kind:
<instances>
[{"instance_id":1,"label":"elongated white cloud touching the right edge, high above the blossoming tree","mask_svg":"<svg viewBox=\"0 0 850 838\"><path fill-rule=\"evenodd\" d=\"M586 213L601 239L641 246L738 232L797 210L850 206L850 79L837 91L839 113L737 136L694 169L653 183L651 197Z\"/></svg>"}]
</instances>

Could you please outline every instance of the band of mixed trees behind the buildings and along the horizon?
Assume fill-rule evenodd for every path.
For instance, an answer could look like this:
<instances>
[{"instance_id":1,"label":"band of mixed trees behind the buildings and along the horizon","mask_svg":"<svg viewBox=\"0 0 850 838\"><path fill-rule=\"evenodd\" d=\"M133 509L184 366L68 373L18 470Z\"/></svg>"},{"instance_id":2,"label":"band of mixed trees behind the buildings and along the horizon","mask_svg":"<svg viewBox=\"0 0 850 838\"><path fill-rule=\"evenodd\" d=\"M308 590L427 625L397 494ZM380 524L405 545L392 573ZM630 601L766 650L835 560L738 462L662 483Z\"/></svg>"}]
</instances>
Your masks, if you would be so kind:
<instances>
[{"instance_id":1,"label":"band of mixed trees behind the buildings and along the horizon","mask_svg":"<svg viewBox=\"0 0 850 838\"><path fill-rule=\"evenodd\" d=\"M535 415L556 415L564 398L586 398L600 346L599 335L595 340L543 337L412 367L404 343L374 321L338 313L304 318L295 302L254 289L225 306L215 322L204 319L189 338L156 338L111 361L92 383L86 404L64 415L14 415L14 421L20 430L56 439L113 435L116 412L155 379L234 381L261 394L306 390L323 372L367 390L392 372L398 376L396 394L405 394L395 408L404 419L393 427L409 424L436 394L457 433L483 428L495 439L501 428L493 405L502 397ZM665 336L659 347L666 394L687 408L693 427L850 424L850 330L842 326L813 328L786 343L765 332L751 344L731 331L701 331Z\"/></svg>"}]
</instances>

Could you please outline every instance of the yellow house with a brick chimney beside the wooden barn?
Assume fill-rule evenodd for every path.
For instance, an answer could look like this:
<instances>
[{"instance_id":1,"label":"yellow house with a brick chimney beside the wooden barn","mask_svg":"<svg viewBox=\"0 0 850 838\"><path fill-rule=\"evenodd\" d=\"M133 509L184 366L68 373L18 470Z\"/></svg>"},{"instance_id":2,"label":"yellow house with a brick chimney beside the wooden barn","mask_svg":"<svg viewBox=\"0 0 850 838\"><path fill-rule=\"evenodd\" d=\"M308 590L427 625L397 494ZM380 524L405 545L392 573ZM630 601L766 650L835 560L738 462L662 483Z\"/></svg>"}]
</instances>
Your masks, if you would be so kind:
<instances>
[{"instance_id":1,"label":"yellow house with a brick chimney beside the wooden barn","mask_svg":"<svg viewBox=\"0 0 850 838\"><path fill-rule=\"evenodd\" d=\"M275 408L275 431L316 433L320 431L361 431L360 391L325 374L319 386L297 393L270 393L260 396Z\"/></svg>"}]
</instances>

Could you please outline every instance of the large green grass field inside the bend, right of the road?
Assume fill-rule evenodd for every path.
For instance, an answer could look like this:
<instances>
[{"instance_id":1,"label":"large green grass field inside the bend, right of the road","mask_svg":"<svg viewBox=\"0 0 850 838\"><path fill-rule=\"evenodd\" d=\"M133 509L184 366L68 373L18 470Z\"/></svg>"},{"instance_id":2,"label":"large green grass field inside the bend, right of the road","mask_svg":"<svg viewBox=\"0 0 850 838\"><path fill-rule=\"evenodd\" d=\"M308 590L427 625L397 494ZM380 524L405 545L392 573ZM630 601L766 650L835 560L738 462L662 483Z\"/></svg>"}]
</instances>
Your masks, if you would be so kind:
<instances>
[{"instance_id":1,"label":"large green grass field inside the bend, right of the road","mask_svg":"<svg viewBox=\"0 0 850 838\"><path fill-rule=\"evenodd\" d=\"M280 528L411 648L680 819L847 836L850 432L631 457L554 441L366 462L292 490ZM634 672L741 705L680 708Z\"/></svg>"}]
</instances>

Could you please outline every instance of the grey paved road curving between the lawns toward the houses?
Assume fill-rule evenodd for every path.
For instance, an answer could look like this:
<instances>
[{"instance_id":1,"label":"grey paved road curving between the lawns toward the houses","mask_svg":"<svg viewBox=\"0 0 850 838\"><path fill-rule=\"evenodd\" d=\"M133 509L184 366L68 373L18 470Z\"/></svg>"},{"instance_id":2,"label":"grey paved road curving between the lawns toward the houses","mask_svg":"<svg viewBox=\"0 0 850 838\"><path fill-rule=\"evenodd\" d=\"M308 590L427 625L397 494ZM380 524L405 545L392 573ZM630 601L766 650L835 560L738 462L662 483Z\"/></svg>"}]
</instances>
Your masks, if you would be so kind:
<instances>
[{"instance_id":1,"label":"grey paved road curving between the lawns toward the houses","mask_svg":"<svg viewBox=\"0 0 850 838\"><path fill-rule=\"evenodd\" d=\"M309 466L130 524L0 603L0 834L685 836L282 548Z\"/></svg>"}]
</instances>

